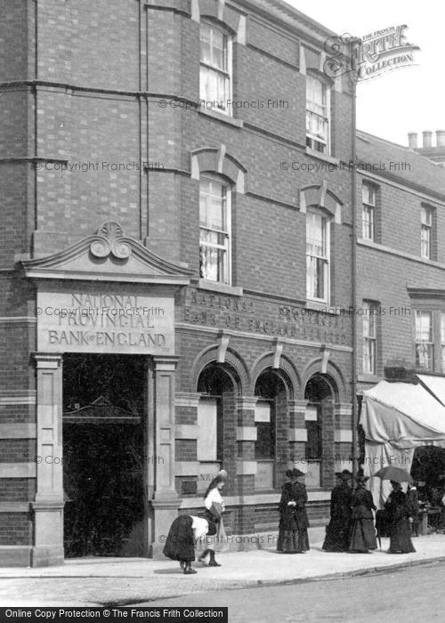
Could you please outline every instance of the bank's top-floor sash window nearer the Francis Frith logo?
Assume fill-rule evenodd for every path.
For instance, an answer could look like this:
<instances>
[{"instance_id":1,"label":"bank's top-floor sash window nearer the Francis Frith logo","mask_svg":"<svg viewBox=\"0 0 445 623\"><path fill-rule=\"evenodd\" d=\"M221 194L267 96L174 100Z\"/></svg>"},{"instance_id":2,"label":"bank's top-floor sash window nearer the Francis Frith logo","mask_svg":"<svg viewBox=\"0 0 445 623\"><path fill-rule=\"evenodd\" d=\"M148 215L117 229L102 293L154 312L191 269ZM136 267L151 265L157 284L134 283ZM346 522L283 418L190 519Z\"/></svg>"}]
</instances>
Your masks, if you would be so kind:
<instances>
[{"instance_id":1,"label":"bank's top-floor sash window nearer the Francis Frith logo","mask_svg":"<svg viewBox=\"0 0 445 623\"><path fill-rule=\"evenodd\" d=\"M306 77L306 145L329 153L329 87L319 78Z\"/></svg>"}]
</instances>

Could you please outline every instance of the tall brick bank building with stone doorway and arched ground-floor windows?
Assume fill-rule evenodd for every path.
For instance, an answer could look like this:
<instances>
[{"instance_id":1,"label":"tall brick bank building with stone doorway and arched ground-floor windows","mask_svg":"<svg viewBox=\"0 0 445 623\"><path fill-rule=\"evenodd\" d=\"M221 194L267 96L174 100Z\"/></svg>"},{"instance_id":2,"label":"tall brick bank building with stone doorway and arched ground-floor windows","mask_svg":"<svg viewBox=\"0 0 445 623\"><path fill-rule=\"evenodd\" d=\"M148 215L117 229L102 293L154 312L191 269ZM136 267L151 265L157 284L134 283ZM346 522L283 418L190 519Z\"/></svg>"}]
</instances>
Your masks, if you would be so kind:
<instances>
[{"instance_id":1,"label":"tall brick bank building with stone doorway and arched ground-floor windows","mask_svg":"<svg viewBox=\"0 0 445 623\"><path fill-rule=\"evenodd\" d=\"M221 468L229 534L276 530L291 465L326 522L356 458L333 33L275 0L6 15L0 564L160 555Z\"/></svg>"}]
</instances>

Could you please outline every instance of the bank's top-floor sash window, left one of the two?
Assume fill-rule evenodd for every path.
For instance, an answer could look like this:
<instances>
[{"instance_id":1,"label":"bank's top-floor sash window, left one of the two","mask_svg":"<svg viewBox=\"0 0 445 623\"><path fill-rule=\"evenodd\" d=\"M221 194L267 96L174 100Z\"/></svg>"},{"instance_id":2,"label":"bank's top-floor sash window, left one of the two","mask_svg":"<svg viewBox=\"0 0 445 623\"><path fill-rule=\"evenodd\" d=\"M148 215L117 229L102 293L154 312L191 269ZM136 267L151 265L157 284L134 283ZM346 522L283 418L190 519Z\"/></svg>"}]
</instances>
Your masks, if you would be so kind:
<instances>
[{"instance_id":1,"label":"bank's top-floor sash window, left one of the two","mask_svg":"<svg viewBox=\"0 0 445 623\"><path fill-rule=\"evenodd\" d=\"M231 100L231 37L214 25L200 25L199 96L229 113Z\"/></svg>"}]
</instances>

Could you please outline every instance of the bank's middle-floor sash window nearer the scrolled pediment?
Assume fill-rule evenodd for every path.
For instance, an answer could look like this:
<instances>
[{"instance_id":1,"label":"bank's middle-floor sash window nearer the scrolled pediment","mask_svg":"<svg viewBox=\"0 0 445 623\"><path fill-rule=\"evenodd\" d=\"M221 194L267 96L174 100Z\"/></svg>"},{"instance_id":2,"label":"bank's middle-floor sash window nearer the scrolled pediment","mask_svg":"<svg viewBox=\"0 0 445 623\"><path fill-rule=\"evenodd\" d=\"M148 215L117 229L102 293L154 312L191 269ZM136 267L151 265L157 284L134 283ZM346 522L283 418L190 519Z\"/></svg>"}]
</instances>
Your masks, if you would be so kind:
<instances>
[{"instance_id":1,"label":"bank's middle-floor sash window nearer the scrolled pediment","mask_svg":"<svg viewBox=\"0 0 445 623\"><path fill-rule=\"evenodd\" d=\"M199 277L231 283L231 189L199 182Z\"/></svg>"}]
</instances>

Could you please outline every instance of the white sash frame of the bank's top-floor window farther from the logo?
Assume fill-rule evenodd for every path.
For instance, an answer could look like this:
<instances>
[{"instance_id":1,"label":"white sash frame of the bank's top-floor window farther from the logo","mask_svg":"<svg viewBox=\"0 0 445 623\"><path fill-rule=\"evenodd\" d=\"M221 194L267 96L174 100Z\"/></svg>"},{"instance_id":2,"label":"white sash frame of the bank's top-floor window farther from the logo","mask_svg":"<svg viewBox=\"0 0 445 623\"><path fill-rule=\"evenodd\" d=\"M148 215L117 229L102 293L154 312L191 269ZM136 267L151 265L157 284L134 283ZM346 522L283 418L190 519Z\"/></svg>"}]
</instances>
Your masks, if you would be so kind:
<instances>
[{"instance_id":1,"label":"white sash frame of the bank's top-floor window farther from the logo","mask_svg":"<svg viewBox=\"0 0 445 623\"><path fill-rule=\"evenodd\" d=\"M212 63L205 62L201 59L201 28L209 28L210 29L210 50L213 50L213 33L214 31L218 31L223 35L226 41L226 69L220 69L216 67ZM231 101L232 97L232 85L233 85L233 65L232 65L232 36L224 30L224 28L218 28L214 23L209 21L202 21L199 25L199 98L201 101L214 101L214 107L206 104L205 109L216 109L218 112L223 113L224 115L232 116L232 107L228 105L228 101ZM215 74L219 76L223 76L225 78L225 86L224 86L224 98L223 100L218 100L217 93L213 93L208 96L207 93L204 93L204 83L202 78L202 70L207 69L209 71L213 71ZM210 99L208 99L208 97Z\"/></svg>"}]
</instances>

